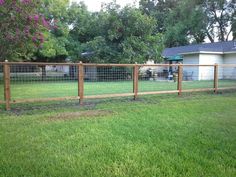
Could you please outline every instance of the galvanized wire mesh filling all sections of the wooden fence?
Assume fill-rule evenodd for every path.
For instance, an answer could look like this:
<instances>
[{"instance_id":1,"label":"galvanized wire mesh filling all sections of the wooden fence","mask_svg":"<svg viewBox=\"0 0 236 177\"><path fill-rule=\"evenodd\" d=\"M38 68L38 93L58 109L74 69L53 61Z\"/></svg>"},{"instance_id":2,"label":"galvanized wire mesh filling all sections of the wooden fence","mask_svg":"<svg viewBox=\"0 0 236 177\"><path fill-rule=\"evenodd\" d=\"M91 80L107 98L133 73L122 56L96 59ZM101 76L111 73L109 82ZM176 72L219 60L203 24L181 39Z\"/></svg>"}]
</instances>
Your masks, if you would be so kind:
<instances>
[{"instance_id":1,"label":"galvanized wire mesh filling all sections of the wooden fence","mask_svg":"<svg viewBox=\"0 0 236 177\"><path fill-rule=\"evenodd\" d=\"M78 64L8 63L11 101L77 97ZM82 65L80 65L82 66ZM135 65L83 64L84 95L132 95ZM182 90L214 88L215 66L183 65ZM138 92L177 91L178 65L140 65ZM236 88L236 65L218 66L219 88ZM0 101L4 100L3 65L0 65ZM144 93L145 94L145 93ZM87 97L88 98L88 97ZM90 97L91 98L91 97Z\"/></svg>"}]
</instances>

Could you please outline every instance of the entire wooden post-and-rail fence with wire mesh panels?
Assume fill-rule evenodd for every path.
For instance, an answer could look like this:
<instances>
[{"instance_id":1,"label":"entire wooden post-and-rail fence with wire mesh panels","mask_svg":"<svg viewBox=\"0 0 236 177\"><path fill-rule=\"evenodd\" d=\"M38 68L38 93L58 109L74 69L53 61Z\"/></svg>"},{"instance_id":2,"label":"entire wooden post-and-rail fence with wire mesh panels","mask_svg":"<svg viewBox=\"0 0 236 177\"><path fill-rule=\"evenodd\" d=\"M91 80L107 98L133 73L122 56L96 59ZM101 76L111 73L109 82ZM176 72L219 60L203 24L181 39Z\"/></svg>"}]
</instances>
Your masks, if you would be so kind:
<instances>
[{"instance_id":1,"label":"entire wooden post-and-rail fence with wire mesh panels","mask_svg":"<svg viewBox=\"0 0 236 177\"><path fill-rule=\"evenodd\" d=\"M236 64L0 63L0 103L236 89Z\"/></svg>"}]
</instances>

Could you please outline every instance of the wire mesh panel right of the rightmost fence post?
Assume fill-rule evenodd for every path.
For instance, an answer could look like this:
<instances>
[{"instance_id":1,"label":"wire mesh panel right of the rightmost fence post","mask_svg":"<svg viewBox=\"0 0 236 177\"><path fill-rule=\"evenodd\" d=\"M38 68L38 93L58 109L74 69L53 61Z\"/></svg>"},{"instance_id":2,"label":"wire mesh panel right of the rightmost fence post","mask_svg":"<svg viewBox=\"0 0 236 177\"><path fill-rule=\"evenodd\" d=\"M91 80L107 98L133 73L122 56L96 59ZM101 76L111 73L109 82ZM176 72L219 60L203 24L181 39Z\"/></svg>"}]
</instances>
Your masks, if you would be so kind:
<instances>
[{"instance_id":1,"label":"wire mesh panel right of the rightmost fence post","mask_svg":"<svg viewBox=\"0 0 236 177\"><path fill-rule=\"evenodd\" d=\"M219 78L218 81L219 88L227 88L227 87L236 88L236 65L219 66L218 78Z\"/></svg>"}]
</instances>

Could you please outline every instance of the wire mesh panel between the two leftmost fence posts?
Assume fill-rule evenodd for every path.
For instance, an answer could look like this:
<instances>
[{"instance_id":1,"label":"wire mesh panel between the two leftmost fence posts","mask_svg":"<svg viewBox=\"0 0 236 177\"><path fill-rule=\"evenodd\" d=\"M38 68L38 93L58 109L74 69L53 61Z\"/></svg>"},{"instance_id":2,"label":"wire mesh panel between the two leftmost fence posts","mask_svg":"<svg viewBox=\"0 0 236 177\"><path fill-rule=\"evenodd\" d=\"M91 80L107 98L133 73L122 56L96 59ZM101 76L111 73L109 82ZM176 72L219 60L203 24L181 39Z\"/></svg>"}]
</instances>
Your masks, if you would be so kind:
<instances>
[{"instance_id":1,"label":"wire mesh panel between the two leftmost fence posts","mask_svg":"<svg viewBox=\"0 0 236 177\"><path fill-rule=\"evenodd\" d=\"M78 95L77 66L11 65L11 99L41 99Z\"/></svg>"}]
</instances>

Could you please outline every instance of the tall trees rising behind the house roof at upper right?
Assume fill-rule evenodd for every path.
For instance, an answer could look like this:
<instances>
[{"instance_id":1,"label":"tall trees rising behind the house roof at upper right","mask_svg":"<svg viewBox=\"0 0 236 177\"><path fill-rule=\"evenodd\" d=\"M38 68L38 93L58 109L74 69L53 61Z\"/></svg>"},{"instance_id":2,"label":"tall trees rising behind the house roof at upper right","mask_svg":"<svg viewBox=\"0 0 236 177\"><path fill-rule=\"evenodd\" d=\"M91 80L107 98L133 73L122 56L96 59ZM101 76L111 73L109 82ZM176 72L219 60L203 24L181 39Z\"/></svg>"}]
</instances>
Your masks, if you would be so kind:
<instances>
[{"instance_id":1,"label":"tall trees rising behind the house roof at upper right","mask_svg":"<svg viewBox=\"0 0 236 177\"><path fill-rule=\"evenodd\" d=\"M156 19L166 47L236 38L235 0L141 0L140 9Z\"/></svg>"}]
</instances>

